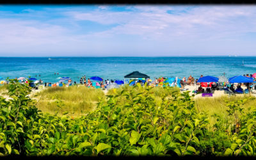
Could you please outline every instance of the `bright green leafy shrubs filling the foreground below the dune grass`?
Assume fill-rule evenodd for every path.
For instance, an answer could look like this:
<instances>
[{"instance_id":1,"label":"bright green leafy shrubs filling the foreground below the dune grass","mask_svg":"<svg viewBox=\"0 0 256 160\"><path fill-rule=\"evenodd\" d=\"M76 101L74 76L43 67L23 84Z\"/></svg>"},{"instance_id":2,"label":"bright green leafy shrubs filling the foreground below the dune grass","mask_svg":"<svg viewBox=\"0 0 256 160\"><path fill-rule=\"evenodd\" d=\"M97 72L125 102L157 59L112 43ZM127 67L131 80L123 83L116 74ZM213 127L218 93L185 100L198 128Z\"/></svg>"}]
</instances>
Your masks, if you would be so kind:
<instances>
[{"instance_id":1,"label":"bright green leafy shrubs filling the foreground below the dune grass","mask_svg":"<svg viewBox=\"0 0 256 160\"><path fill-rule=\"evenodd\" d=\"M27 156L255 156L255 106L244 113L244 100L227 103L232 121L218 119L207 127L205 113L198 113L188 92L170 87L156 104L152 89L108 95L97 109L80 118L40 113L28 97L27 84L11 80L0 97L0 154ZM125 96L125 104L120 102ZM216 115L218 118L218 115Z\"/></svg>"}]
</instances>

